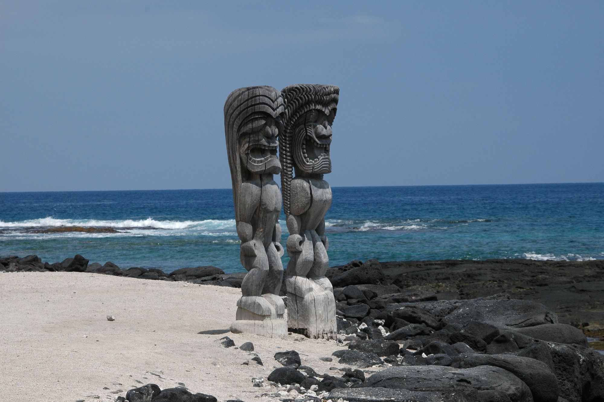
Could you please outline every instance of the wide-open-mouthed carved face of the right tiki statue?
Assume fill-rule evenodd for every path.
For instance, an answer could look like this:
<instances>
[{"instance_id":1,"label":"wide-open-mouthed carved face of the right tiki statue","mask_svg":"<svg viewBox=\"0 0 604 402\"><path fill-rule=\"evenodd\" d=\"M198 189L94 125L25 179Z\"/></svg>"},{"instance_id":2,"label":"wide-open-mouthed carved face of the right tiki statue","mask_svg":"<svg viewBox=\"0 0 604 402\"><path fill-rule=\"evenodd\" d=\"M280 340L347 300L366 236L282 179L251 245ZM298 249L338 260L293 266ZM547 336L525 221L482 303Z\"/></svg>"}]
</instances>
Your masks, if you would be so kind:
<instances>
[{"instance_id":1,"label":"wide-open-mouthed carved face of the right tiki statue","mask_svg":"<svg viewBox=\"0 0 604 402\"><path fill-rule=\"evenodd\" d=\"M330 173L332 160L329 145L332 143L333 114L310 110L298 119L294 129L293 154L298 169L306 173Z\"/></svg>"}]
</instances>

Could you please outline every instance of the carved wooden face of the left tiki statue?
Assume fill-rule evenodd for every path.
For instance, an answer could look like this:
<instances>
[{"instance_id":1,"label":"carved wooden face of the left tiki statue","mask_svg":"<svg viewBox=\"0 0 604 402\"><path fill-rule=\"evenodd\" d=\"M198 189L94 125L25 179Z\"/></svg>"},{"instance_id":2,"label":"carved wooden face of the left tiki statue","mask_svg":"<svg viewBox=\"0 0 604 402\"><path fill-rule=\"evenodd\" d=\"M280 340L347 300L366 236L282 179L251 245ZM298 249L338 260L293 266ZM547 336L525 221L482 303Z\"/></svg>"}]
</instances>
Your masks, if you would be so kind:
<instances>
[{"instance_id":1,"label":"carved wooden face of the left tiki statue","mask_svg":"<svg viewBox=\"0 0 604 402\"><path fill-rule=\"evenodd\" d=\"M256 174L281 172L277 157L280 123L264 113L249 115L239 130L239 156L242 165Z\"/></svg>"}]
</instances>

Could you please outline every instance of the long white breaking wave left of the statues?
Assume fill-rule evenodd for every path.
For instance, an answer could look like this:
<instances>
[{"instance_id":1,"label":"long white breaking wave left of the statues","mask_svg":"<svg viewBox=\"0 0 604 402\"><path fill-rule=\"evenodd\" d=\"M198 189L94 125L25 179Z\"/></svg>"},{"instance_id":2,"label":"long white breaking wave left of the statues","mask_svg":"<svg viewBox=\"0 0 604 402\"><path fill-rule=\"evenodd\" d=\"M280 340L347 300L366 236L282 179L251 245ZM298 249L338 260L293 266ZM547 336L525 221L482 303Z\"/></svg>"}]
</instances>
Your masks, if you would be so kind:
<instances>
[{"instance_id":1,"label":"long white breaking wave left of the statues","mask_svg":"<svg viewBox=\"0 0 604 402\"><path fill-rule=\"evenodd\" d=\"M234 229L235 219L205 219L203 221L158 221L153 218L147 219L125 219L120 221L101 221L97 219L56 219L51 216L40 219L30 219L18 222L0 221L2 228L32 228L32 227L60 227L60 226L78 226L78 227L114 227L120 228L144 228L154 229L201 229L201 230L219 230Z\"/></svg>"}]
</instances>

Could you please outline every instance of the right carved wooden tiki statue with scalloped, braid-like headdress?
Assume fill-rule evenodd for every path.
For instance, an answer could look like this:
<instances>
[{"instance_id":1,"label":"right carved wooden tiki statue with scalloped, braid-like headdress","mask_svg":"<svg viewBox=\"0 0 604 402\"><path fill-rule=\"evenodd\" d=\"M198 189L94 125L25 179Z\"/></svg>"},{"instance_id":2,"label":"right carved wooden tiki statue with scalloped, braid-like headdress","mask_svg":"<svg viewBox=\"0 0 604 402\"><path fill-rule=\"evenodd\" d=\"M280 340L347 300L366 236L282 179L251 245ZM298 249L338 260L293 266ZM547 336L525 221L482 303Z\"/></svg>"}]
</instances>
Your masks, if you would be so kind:
<instances>
[{"instance_id":1,"label":"right carved wooden tiki statue with scalloped, braid-like headdress","mask_svg":"<svg viewBox=\"0 0 604 402\"><path fill-rule=\"evenodd\" d=\"M325 214L332 191L323 175L332 170L329 147L339 88L291 85L281 90L281 96L281 190L290 233L285 280L288 326L310 338L335 339L335 299L325 277L329 266Z\"/></svg>"}]
</instances>

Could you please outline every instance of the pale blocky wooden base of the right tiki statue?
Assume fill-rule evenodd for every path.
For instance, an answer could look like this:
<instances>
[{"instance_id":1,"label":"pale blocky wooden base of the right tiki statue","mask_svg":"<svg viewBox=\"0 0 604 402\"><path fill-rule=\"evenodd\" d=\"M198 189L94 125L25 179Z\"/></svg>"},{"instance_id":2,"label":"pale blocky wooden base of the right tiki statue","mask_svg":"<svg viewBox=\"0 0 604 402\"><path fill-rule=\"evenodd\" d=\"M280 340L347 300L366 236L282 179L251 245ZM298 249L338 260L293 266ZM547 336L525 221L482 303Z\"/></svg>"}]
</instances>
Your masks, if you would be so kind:
<instances>
[{"instance_id":1,"label":"pale blocky wooden base of the right tiki statue","mask_svg":"<svg viewBox=\"0 0 604 402\"><path fill-rule=\"evenodd\" d=\"M313 339L336 339L336 302L333 293L303 276L286 278L288 328Z\"/></svg>"}]
</instances>

